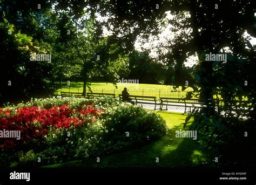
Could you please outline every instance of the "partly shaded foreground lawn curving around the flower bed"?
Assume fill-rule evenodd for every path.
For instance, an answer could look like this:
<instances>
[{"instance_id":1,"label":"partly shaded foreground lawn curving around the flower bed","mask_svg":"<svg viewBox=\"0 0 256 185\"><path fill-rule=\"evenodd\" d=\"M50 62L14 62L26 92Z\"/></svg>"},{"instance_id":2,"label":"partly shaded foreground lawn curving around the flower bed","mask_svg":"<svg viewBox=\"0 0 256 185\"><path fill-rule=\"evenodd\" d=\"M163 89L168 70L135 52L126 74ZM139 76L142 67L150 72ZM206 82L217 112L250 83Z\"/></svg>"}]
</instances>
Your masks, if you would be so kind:
<instances>
[{"instance_id":1,"label":"partly shaded foreground lawn curving around the flower bed","mask_svg":"<svg viewBox=\"0 0 256 185\"><path fill-rule=\"evenodd\" d=\"M197 140L175 136L176 130L183 129L180 124L186 115L163 111L157 113L166 120L169 134L150 145L129 152L99 156L99 163L95 157L44 167L210 167L213 154L210 156L200 148ZM158 163L156 157L159 157Z\"/></svg>"}]
</instances>

